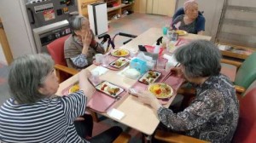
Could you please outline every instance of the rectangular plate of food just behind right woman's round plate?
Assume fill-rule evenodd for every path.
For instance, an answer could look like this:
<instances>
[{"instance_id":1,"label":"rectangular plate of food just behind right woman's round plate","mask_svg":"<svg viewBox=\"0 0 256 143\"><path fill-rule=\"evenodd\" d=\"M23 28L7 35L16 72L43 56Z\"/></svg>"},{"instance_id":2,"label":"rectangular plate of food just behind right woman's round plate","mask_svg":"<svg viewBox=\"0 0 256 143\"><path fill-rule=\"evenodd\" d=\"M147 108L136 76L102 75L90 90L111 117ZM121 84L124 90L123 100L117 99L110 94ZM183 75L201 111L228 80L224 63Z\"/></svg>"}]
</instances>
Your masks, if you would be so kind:
<instances>
[{"instance_id":1,"label":"rectangular plate of food just behind right woman's round plate","mask_svg":"<svg viewBox=\"0 0 256 143\"><path fill-rule=\"evenodd\" d=\"M161 72L149 70L138 81L144 84L154 83L161 76Z\"/></svg>"}]
</instances>

